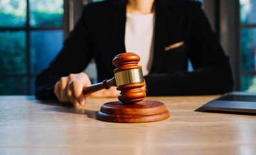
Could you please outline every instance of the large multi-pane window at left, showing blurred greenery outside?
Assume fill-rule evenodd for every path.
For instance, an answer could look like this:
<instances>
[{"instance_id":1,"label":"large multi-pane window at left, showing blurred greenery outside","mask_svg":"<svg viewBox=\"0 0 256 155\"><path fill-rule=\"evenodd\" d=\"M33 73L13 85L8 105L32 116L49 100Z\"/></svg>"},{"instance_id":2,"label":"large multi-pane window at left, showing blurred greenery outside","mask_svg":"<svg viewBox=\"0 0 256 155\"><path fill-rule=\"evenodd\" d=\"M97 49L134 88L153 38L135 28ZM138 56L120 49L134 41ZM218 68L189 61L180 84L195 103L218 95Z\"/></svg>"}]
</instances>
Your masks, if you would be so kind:
<instances>
[{"instance_id":1,"label":"large multi-pane window at left, showing blurred greenery outside","mask_svg":"<svg viewBox=\"0 0 256 155\"><path fill-rule=\"evenodd\" d=\"M0 94L33 94L63 45L63 0L0 0Z\"/></svg>"}]
</instances>

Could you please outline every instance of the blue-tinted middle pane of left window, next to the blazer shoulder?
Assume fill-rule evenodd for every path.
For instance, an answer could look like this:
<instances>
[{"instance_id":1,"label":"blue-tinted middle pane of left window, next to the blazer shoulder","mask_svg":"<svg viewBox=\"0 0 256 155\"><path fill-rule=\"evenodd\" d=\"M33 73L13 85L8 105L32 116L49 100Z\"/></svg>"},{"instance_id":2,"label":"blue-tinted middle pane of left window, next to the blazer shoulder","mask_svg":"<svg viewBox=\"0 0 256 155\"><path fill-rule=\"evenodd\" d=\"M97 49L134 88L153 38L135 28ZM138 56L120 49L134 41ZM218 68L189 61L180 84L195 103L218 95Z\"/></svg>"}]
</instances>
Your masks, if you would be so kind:
<instances>
[{"instance_id":1,"label":"blue-tinted middle pane of left window, next to the blazer shoulder","mask_svg":"<svg viewBox=\"0 0 256 155\"><path fill-rule=\"evenodd\" d=\"M41 72L56 57L63 45L62 30L32 31L31 62L32 73Z\"/></svg>"}]
</instances>

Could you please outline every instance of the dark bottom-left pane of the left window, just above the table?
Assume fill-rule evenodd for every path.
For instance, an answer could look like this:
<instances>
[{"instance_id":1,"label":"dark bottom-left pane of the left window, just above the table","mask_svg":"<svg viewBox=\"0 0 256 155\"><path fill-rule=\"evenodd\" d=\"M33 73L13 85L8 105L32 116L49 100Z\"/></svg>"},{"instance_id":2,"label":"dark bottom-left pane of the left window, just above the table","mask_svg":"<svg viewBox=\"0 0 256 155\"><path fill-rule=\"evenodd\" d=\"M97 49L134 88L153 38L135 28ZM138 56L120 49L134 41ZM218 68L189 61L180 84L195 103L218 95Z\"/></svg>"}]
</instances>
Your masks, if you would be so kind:
<instances>
[{"instance_id":1,"label":"dark bottom-left pane of the left window, just above the table","mask_svg":"<svg viewBox=\"0 0 256 155\"><path fill-rule=\"evenodd\" d=\"M28 78L0 78L0 95L27 95Z\"/></svg>"}]
</instances>

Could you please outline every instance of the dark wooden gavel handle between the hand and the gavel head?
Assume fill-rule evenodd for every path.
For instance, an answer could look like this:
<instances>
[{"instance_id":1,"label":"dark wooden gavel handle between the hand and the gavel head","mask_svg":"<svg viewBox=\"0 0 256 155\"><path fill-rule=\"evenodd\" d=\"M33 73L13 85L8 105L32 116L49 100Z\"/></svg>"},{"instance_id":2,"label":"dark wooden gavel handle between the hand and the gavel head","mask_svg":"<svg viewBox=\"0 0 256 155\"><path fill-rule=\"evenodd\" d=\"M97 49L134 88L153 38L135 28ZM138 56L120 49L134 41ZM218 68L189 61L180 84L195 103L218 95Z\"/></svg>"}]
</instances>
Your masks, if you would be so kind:
<instances>
[{"instance_id":1,"label":"dark wooden gavel handle between the hand and the gavel head","mask_svg":"<svg viewBox=\"0 0 256 155\"><path fill-rule=\"evenodd\" d=\"M84 88L83 93L84 94L93 93L93 92L102 90L104 88L109 89L110 87L113 87L113 86L117 86L115 82L115 77L112 79L105 79L101 83L95 83L93 85L89 85L86 88Z\"/></svg>"}]
</instances>

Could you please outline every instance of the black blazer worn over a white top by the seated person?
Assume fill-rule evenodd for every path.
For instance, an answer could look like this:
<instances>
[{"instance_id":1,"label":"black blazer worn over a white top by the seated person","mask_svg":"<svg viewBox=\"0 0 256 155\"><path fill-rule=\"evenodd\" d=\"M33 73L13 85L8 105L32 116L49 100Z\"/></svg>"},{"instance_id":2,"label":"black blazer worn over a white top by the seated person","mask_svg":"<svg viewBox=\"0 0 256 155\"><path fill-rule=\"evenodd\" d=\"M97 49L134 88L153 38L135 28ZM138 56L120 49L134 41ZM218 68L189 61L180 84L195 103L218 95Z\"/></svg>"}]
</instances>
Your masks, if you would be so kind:
<instances>
[{"instance_id":1,"label":"black blazer worn over a white top by the seated person","mask_svg":"<svg viewBox=\"0 0 256 155\"><path fill-rule=\"evenodd\" d=\"M113 57L125 51L126 0L84 6L82 17L51 65L36 79L36 96L54 98L62 76L82 72L92 58L99 81L113 78ZM148 95L222 94L233 87L229 59L196 1L156 0L152 69L145 76ZM174 43L183 45L165 50ZM141 57L143 59L143 57ZM187 72L191 59L193 72Z\"/></svg>"}]
</instances>

